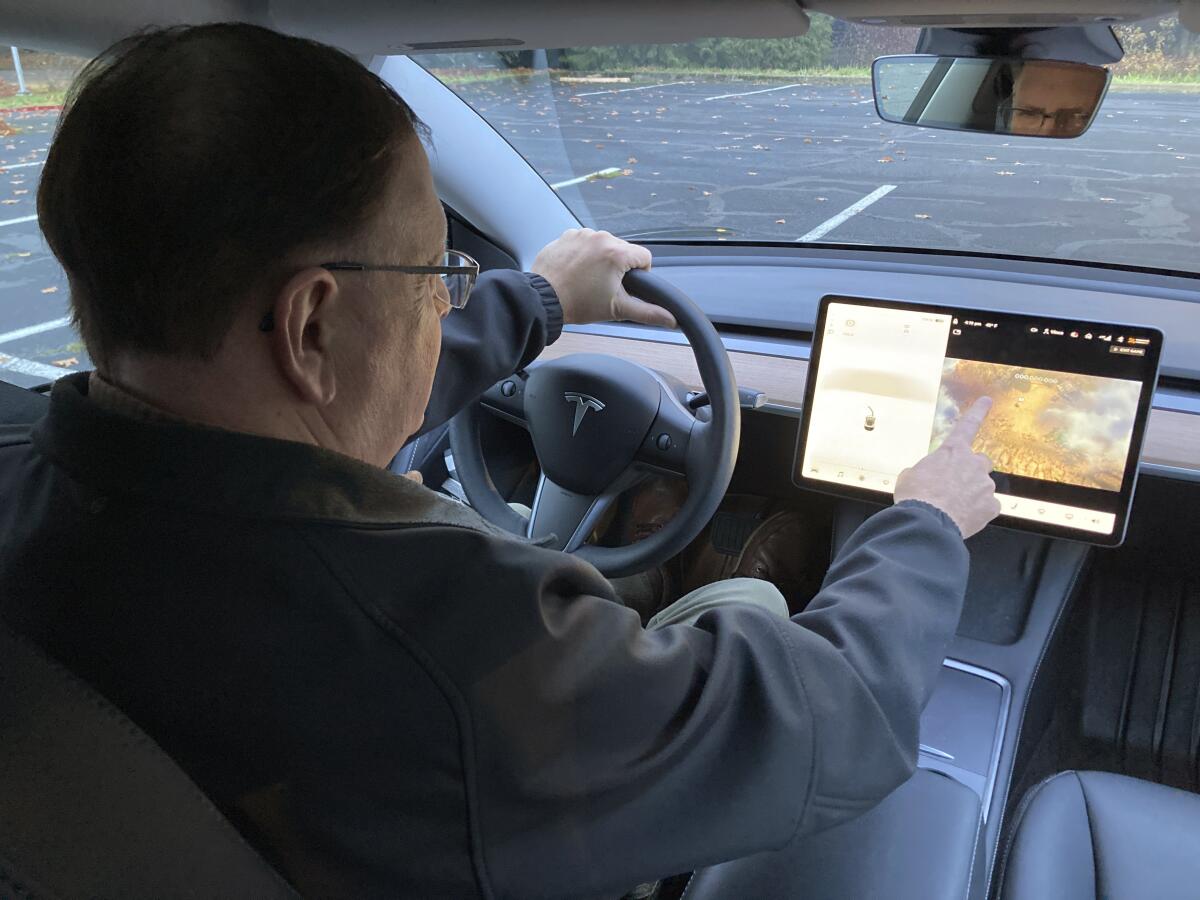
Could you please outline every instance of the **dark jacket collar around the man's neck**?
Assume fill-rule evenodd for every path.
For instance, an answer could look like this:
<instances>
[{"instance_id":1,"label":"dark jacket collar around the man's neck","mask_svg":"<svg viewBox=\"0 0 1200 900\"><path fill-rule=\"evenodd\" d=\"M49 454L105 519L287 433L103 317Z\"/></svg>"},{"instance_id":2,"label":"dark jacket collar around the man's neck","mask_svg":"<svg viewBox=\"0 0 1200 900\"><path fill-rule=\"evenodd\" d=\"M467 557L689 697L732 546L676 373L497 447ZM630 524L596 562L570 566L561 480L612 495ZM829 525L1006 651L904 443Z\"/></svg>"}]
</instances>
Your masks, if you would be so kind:
<instances>
[{"instance_id":1,"label":"dark jacket collar around the man's neck","mask_svg":"<svg viewBox=\"0 0 1200 900\"><path fill-rule=\"evenodd\" d=\"M58 380L32 442L106 494L250 518L445 524L511 536L468 506L342 454L102 406L89 397L86 372Z\"/></svg>"}]
</instances>

